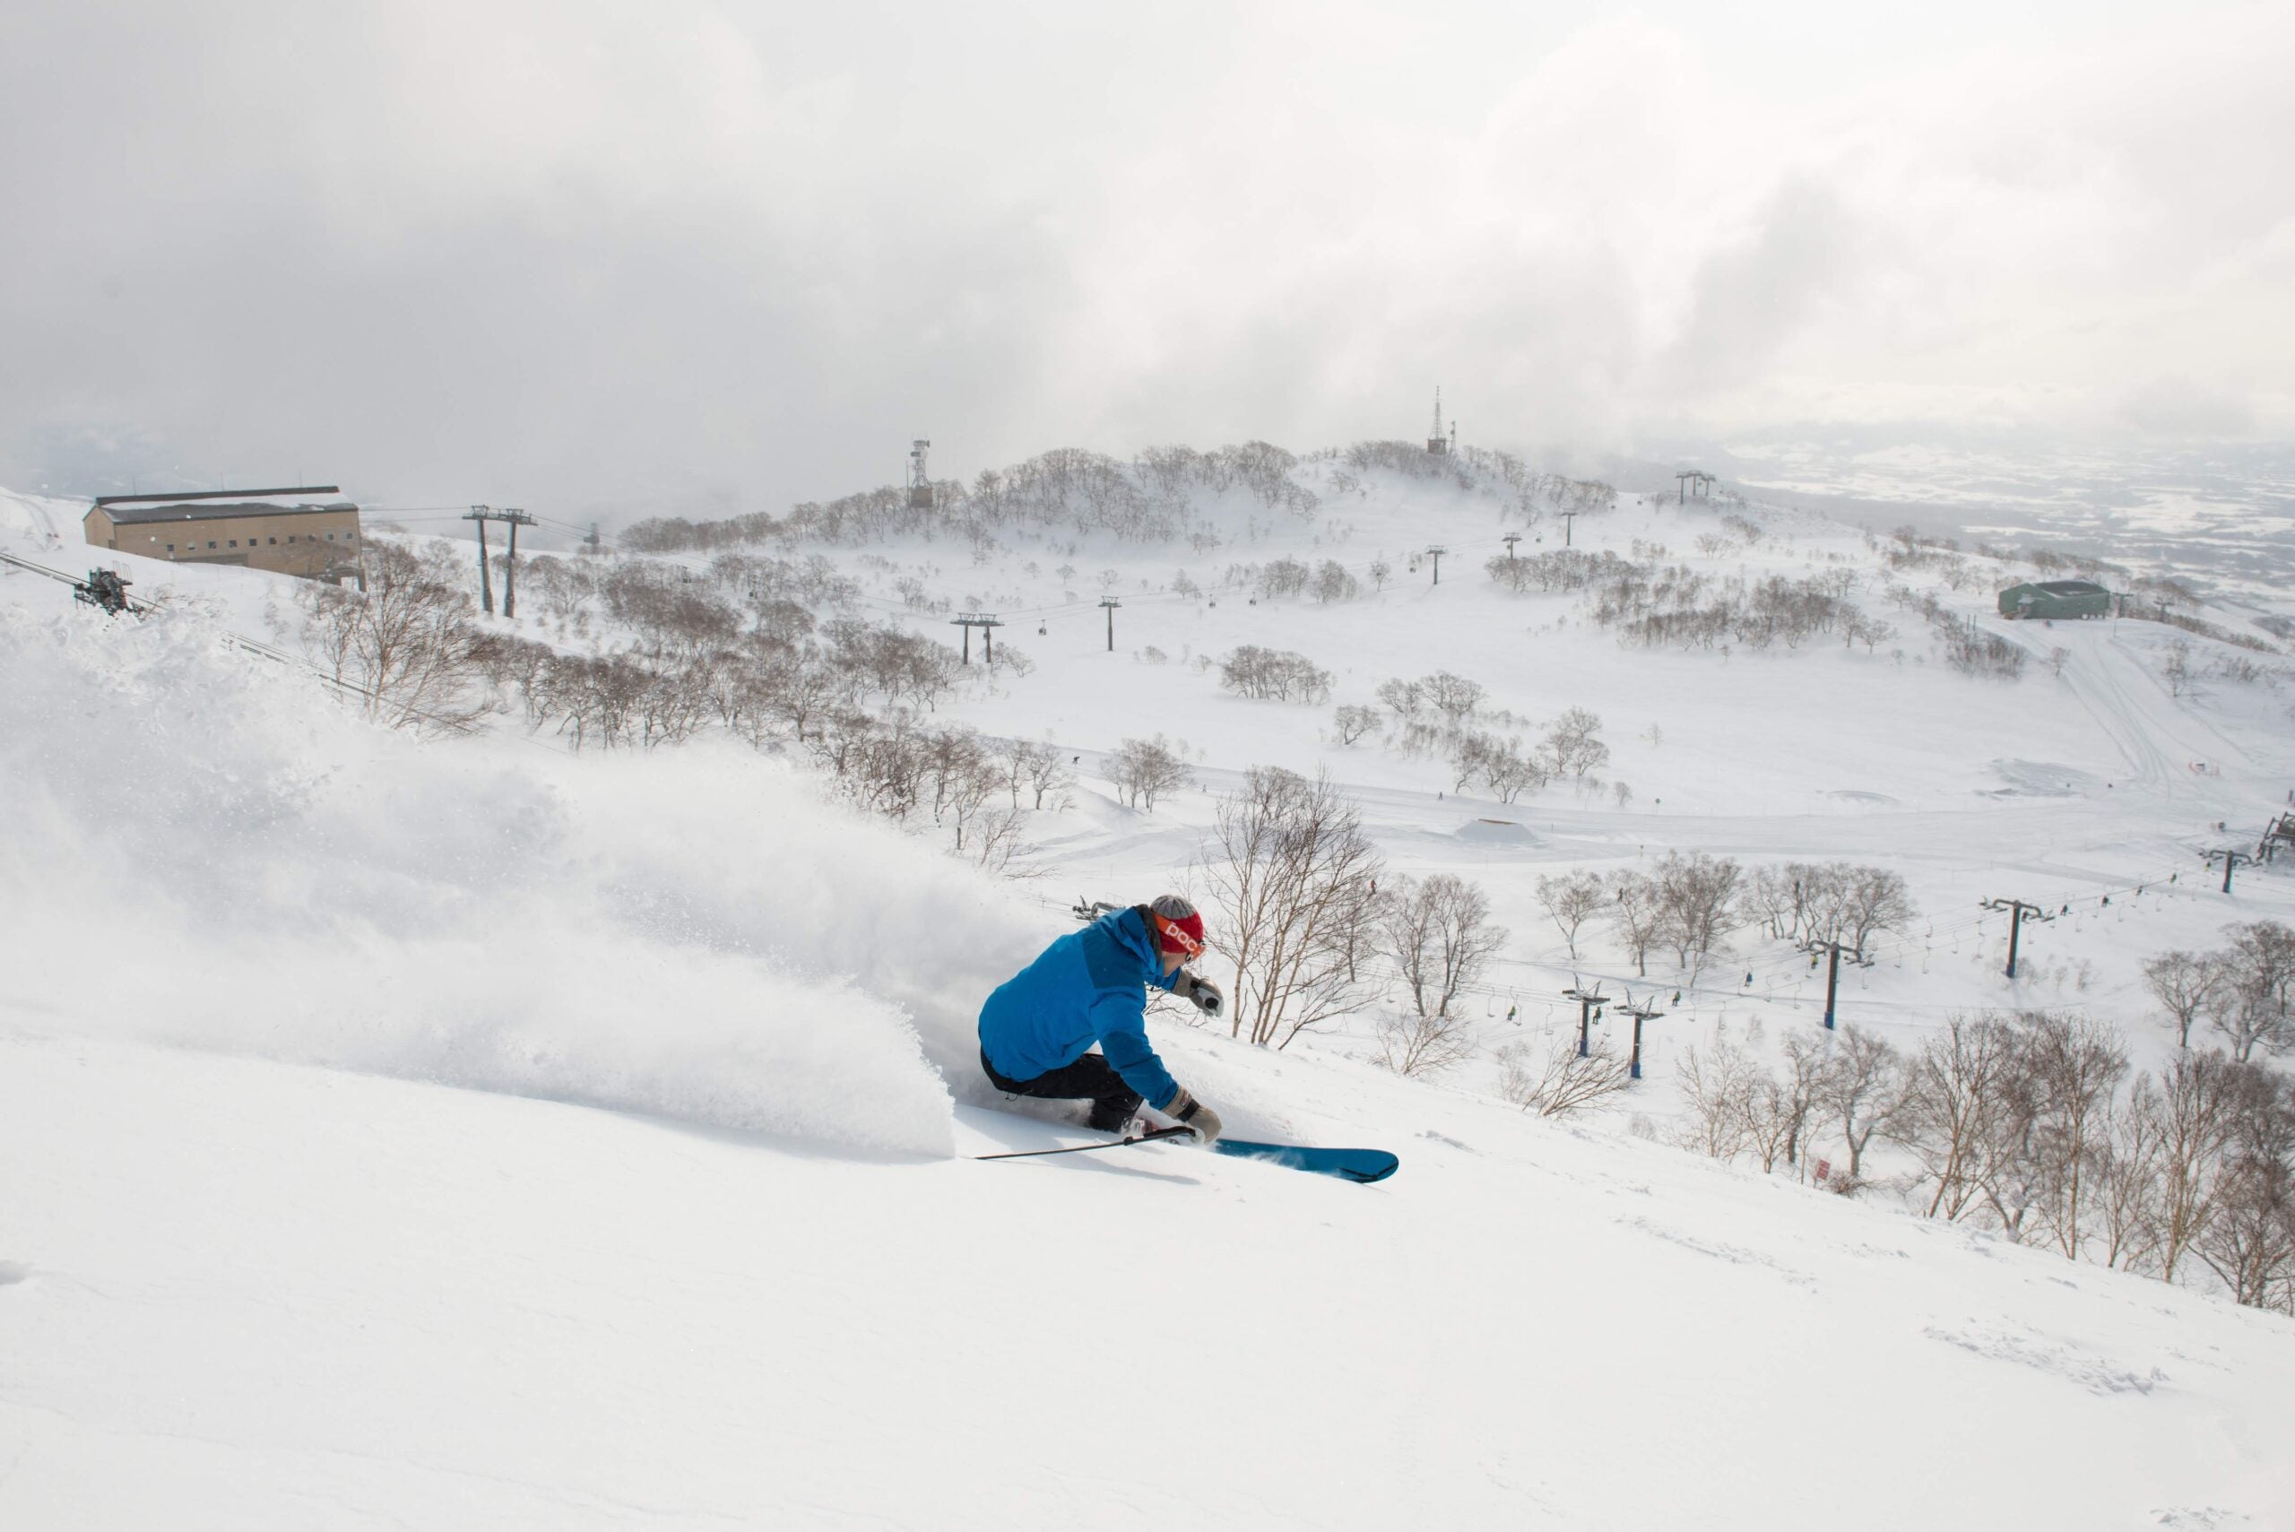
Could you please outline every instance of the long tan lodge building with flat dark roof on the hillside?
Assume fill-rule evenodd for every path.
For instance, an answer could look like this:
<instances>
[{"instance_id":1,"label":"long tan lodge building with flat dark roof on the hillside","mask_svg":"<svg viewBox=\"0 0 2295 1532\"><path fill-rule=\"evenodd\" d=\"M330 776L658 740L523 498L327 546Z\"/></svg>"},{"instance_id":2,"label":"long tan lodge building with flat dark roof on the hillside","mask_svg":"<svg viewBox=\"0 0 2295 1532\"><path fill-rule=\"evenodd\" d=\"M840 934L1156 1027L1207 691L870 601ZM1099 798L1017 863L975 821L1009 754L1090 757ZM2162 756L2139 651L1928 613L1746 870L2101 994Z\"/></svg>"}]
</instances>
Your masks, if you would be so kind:
<instances>
[{"instance_id":1,"label":"long tan lodge building with flat dark roof on the hillside","mask_svg":"<svg viewBox=\"0 0 2295 1532\"><path fill-rule=\"evenodd\" d=\"M188 495L103 495L87 541L174 564L246 564L305 580L358 578L358 507L333 484L211 488Z\"/></svg>"}]
</instances>

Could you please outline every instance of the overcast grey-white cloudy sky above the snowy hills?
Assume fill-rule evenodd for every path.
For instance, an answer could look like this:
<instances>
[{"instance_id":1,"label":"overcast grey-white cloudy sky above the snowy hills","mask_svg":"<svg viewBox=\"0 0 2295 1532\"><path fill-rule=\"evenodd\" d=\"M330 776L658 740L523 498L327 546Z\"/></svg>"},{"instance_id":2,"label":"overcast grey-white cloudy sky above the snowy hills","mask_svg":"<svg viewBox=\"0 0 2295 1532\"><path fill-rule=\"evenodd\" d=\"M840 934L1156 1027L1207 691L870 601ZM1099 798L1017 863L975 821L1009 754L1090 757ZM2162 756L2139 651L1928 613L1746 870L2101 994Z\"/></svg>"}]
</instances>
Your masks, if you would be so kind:
<instances>
[{"instance_id":1,"label":"overcast grey-white cloudy sky above the snowy hills","mask_svg":"<svg viewBox=\"0 0 2295 1532\"><path fill-rule=\"evenodd\" d=\"M2295 7L0 7L0 484L2295 436Z\"/></svg>"}]
</instances>

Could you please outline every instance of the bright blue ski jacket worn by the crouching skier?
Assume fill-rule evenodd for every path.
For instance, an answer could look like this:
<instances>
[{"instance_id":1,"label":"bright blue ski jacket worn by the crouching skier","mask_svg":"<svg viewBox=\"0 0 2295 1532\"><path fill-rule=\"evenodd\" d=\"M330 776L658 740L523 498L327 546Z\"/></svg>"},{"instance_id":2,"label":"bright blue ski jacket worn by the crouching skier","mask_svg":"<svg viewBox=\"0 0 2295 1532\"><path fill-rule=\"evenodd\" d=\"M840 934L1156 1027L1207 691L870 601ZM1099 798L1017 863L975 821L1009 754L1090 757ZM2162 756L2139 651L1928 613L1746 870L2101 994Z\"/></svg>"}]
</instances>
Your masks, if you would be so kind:
<instances>
[{"instance_id":1,"label":"bright blue ski jacket worn by the crouching skier","mask_svg":"<svg viewBox=\"0 0 2295 1532\"><path fill-rule=\"evenodd\" d=\"M980 1053L1010 1080L1099 1053L1148 1105L1166 1108L1180 1082L1148 1046L1148 991L1168 991L1148 920L1113 910L1069 931L996 986L980 1007Z\"/></svg>"}]
</instances>

